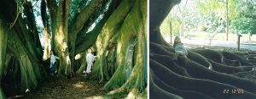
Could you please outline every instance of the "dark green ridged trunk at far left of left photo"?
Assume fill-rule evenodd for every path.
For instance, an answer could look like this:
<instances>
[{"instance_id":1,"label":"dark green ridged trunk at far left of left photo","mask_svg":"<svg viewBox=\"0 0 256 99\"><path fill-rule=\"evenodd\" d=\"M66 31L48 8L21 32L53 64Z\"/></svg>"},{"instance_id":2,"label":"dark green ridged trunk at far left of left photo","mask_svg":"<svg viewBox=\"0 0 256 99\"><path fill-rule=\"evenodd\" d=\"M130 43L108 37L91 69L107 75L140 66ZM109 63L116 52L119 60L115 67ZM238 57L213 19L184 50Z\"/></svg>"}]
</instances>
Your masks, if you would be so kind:
<instances>
[{"instance_id":1,"label":"dark green ridged trunk at far left of left photo","mask_svg":"<svg viewBox=\"0 0 256 99\"><path fill-rule=\"evenodd\" d=\"M22 18L20 11L14 10L16 9L15 1L1 2L0 98L4 98L3 91L5 93L10 92L13 87L15 87L15 91L7 93L8 96L24 94L26 91L34 90L38 86L38 82L43 80L42 74L44 74L44 70L42 70L41 64L39 64L39 59L42 58L42 55L38 51L41 46L37 35L38 32L35 30L36 27L33 23L35 20L32 20L33 14L32 8L29 7L30 4L24 4L26 6L24 10L28 12L24 13L26 18ZM31 18L30 21L28 21L27 17ZM8 67L9 65L15 65L15 67ZM15 71L9 73L12 71L10 69L15 69ZM12 74L18 76L13 78ZM12 80L14 82L5 80ZM15 82L15 80L18 81ZM3 91L2 85L4 87ZM19 86L16 87L16 85Z\"/></svg>"}]
</instances>

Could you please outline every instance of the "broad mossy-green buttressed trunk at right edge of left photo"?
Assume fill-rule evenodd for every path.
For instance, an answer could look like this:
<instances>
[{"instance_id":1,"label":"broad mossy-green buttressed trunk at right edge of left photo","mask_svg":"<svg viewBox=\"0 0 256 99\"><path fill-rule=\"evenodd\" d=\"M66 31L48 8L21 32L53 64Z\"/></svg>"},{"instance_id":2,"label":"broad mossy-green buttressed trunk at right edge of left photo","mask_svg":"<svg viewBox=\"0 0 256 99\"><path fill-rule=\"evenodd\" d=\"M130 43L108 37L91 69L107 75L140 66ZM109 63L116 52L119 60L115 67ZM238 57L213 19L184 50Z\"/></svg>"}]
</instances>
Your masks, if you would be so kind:
<instances>
[{"instance_id":1,"label":"broad mossy-green buttressed trunk at right edge of left photo","mask_svg":"<svg viewBox=\"0 0 256 99\"><path fill-rule=\"evenodd\" d=\"M120 93L128 94L127 97L135 97L138 98L138 93L140 91L145 90L145 83L147 79L144 79L146 74L144 74L144 64L146 63L146 57L144 54L146 53L146 47L144 44L146 43L146 12L147 12L147 2L136 0L133 7L131 8L131 12L129 16L124 21L124 25L121 27L119 31L119 39L117 45L118 52L118 69L113 74L111 80L104 86L104 89L113 89L121 85L118 89L111 91L108 93L108 96L119 96ZM139 9L139 10L138 10ZM137 23L137 24L136 24ZM127 36L127 33L132 33L132 36ZM131 70L131 74L128 75L128 78L125 79L125 73L123 71L129 72L129 64L126 64L125 61L129 61L127 58L126 52L131 52L128 45L131 45L133 37L136 37L136 47L134 52L134 58L132 59L134 62L133 69ZM131 46L130 46L131 47ZM127 76L127 75L126 75Z\"/></svg>"}]
</instances>

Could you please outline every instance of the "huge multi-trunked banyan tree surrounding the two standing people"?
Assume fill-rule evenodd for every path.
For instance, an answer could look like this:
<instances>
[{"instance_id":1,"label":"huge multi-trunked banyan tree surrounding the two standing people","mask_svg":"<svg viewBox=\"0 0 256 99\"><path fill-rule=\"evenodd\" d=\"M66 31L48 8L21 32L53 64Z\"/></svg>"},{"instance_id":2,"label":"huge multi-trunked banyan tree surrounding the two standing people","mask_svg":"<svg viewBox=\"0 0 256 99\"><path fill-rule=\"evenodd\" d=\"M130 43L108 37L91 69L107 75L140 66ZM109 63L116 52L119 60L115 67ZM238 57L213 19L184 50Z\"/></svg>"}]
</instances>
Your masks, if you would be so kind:
<instances>
[{"instance_id":1,"label":"huge multi-trunked banyan tree surrounding the two standing people","mask_svg":"<svg viewBox=\"0 0 256 99\"><path fill-rule=\"evenodd\" d=\"M40 88L51 50L58 76L81 74L89 48L105 96L145 97L146 20L147 0L1 0L0 98Z\"/></svg>"}]
</instances>

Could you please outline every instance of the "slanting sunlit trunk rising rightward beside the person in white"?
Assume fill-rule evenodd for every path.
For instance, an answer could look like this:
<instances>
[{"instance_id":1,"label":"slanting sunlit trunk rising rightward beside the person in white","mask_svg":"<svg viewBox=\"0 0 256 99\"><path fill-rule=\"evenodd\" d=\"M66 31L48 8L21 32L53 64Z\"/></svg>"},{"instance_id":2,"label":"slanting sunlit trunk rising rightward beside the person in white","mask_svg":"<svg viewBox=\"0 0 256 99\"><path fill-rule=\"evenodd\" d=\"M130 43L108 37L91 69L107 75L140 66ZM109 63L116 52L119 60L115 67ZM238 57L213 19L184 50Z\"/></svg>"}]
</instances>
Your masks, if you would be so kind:
<instances>
[{"instance_id":1,"label":"slanting sunlit trunk rising rightward beside the person in white","mask_svg":"<svg viewBox=\"0 0 256 99\"><path fill-rule=\"evenodd\" d=\"M97 80L104 80L104 75L102 73L103 57L106 53L106 47L108 47L108 41L111 37L118 32L119 25L122 24L126 15L129 13L130 8L133 2L125 0L119 4L119 7L114 10L113 14L109 17L106 24L103 26L100 35L96 39L96 52L98 53L99 58L96 59L94 68L92 69L92 77ZM119 18L119 19L116 19Z\"/></svg>"}]
</instances>

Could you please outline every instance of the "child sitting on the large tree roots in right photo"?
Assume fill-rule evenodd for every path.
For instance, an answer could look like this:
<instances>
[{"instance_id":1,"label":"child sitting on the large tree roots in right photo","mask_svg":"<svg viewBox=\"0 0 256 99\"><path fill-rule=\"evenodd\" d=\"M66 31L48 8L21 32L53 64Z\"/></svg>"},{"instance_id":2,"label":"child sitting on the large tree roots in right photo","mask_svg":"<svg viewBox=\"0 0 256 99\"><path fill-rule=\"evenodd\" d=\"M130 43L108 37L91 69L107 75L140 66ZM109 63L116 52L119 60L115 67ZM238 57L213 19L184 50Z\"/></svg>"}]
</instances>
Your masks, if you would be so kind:
<instances>
[{"instance_id":1,"label":"child sitting on the large tree roots in right photo","mask_svg":"<svg viewBox=\"0 0 256 99\"><path fill-rule=\"evenodd\" d=\"M176 36L174 39L173 47L174 47L174 52L175 52L175 56L174 56L173 60L176 60L178 56L186 57L188 55L188 51L183 46L183 43L178 36Z\"/></svg>"}]
</instances>

